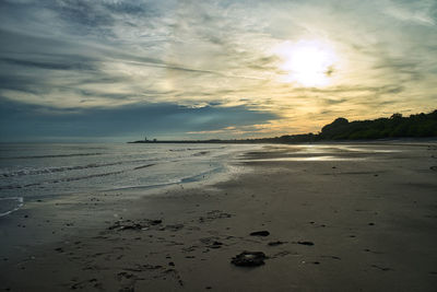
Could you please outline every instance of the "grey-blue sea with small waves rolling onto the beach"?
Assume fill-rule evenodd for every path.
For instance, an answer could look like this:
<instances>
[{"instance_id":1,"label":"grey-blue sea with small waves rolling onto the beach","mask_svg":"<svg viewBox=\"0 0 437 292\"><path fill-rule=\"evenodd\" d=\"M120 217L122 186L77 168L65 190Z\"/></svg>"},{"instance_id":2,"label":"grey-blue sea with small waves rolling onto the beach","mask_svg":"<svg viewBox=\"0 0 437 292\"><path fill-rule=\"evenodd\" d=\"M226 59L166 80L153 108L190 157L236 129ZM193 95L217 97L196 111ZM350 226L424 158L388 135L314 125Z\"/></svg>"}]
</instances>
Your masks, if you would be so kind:
<instances>
[{"instance_id":1,"label":"grey-blue sea with small waves rolling onto the beach","mask_svg":"<svg viewBox=\"0 0 437 292\"><path fill-rule=\"evenodd\" d=\"M0 144L0 217L26 200L93 190L157 188L226 172L234 144Z\"/></svg>"}]
</instances>

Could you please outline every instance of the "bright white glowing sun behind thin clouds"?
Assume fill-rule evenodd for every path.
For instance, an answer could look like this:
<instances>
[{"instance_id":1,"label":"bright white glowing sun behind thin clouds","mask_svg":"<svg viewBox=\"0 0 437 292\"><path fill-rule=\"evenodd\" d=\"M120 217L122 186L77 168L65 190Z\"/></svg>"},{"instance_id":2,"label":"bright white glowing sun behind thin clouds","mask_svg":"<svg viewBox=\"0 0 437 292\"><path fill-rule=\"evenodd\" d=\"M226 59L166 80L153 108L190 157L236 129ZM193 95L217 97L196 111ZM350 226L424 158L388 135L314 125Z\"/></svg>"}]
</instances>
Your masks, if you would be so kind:
<instances>
[{"instance_id":1,"label":"bright white glowing sun behind thin clouds","mask_svg":"<svg viewBox=\"0 0 437 292\"><path fill-rule=\"evenodd\" d=\"M285 42L276 48L282 60L279 66L285 82L295 82L305 87L329 85L335 71L338 58L326 44L317 40Z\"/></svg>"}]
</instances>

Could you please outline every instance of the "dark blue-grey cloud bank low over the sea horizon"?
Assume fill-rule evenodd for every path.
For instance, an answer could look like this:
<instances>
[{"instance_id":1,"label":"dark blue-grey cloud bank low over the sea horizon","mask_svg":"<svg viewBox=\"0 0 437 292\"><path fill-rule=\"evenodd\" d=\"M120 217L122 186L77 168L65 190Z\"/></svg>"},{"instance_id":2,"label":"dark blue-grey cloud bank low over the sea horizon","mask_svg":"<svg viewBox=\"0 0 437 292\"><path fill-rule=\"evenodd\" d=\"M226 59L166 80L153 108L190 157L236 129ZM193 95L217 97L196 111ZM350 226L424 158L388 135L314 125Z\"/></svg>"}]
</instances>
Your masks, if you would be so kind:
<instances>
[{"instance_id":1,"label":"dark blue-grey cloud bank low over the sea horizon","mask_svg":"<svg viewBox=\"0 0 437 292\"><path fill-rule=\"evenodd\" d=\"M117 108L50 108L0 100L1 141L32 141L42 137L85 137L90 141L122 137L141 138L162 132L179 139L187 131L267 122L273 114L244 106L191 108L175 104L127 105ZM32 127L29 127L32 125Z\"/></svg>"}]
</instances>

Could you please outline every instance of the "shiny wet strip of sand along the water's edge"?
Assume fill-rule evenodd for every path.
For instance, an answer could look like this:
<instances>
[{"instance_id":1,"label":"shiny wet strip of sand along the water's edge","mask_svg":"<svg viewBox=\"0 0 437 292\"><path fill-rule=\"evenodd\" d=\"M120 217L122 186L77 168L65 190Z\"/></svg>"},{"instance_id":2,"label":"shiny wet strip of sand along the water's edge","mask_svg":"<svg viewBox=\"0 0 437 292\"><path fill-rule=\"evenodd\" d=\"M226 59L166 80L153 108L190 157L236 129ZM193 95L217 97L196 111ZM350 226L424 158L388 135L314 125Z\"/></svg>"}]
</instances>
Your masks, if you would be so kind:
<instances>
[{"instance_id":1,"label":"shiny wet strip of sand along the water's edge","mask_svg":"<svg viewBox=\"0 0 437 292\"><path fill-rule=\"evenodd\" d=\"M253 145L251 149L259 148ZM108 222L129 217L130 212L138 213L139 208L135 202L144 203L154 197L177 194L181 189L203 188L225 182L232 176L249 171L237 170L238 167L232 165L232 161L244 152L234 151L221 171L205 174L200 179L86 192L70 191L57 196L35 196L24 200L21 198L23 202L20 208L0 217L0 237L2 237L0 258L15 264L25 261L34 257L32 249L35 246L68 242L81 234L92 235L105 229ZM28 243L29 237L32 243ZM17 255L14 253L15 249L19 250Z\"/></svg>"}]
</instances>

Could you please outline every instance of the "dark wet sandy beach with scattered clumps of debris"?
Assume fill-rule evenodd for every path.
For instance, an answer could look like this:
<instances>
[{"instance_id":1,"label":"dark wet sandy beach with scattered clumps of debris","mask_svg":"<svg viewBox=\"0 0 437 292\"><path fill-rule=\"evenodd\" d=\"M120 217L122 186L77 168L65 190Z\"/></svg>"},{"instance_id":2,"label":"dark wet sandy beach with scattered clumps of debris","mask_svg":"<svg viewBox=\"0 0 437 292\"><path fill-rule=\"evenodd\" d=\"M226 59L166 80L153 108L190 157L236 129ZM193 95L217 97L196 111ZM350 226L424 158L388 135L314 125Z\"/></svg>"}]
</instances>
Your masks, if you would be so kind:
<instances>
[{"instance_id":1,"label":"dark wet sandy beach with scattered clumps of debris","mask_svg":"<svg viewBox=\"0 0 437 292\"><path fill-rule=\"evenodd\" d=\"M0 289L436 291L436 143L352 149L267 145L220 183L27 203L0 218ZM245 250L263 265L233 265Z\"/></svg>"}]
</instances>

